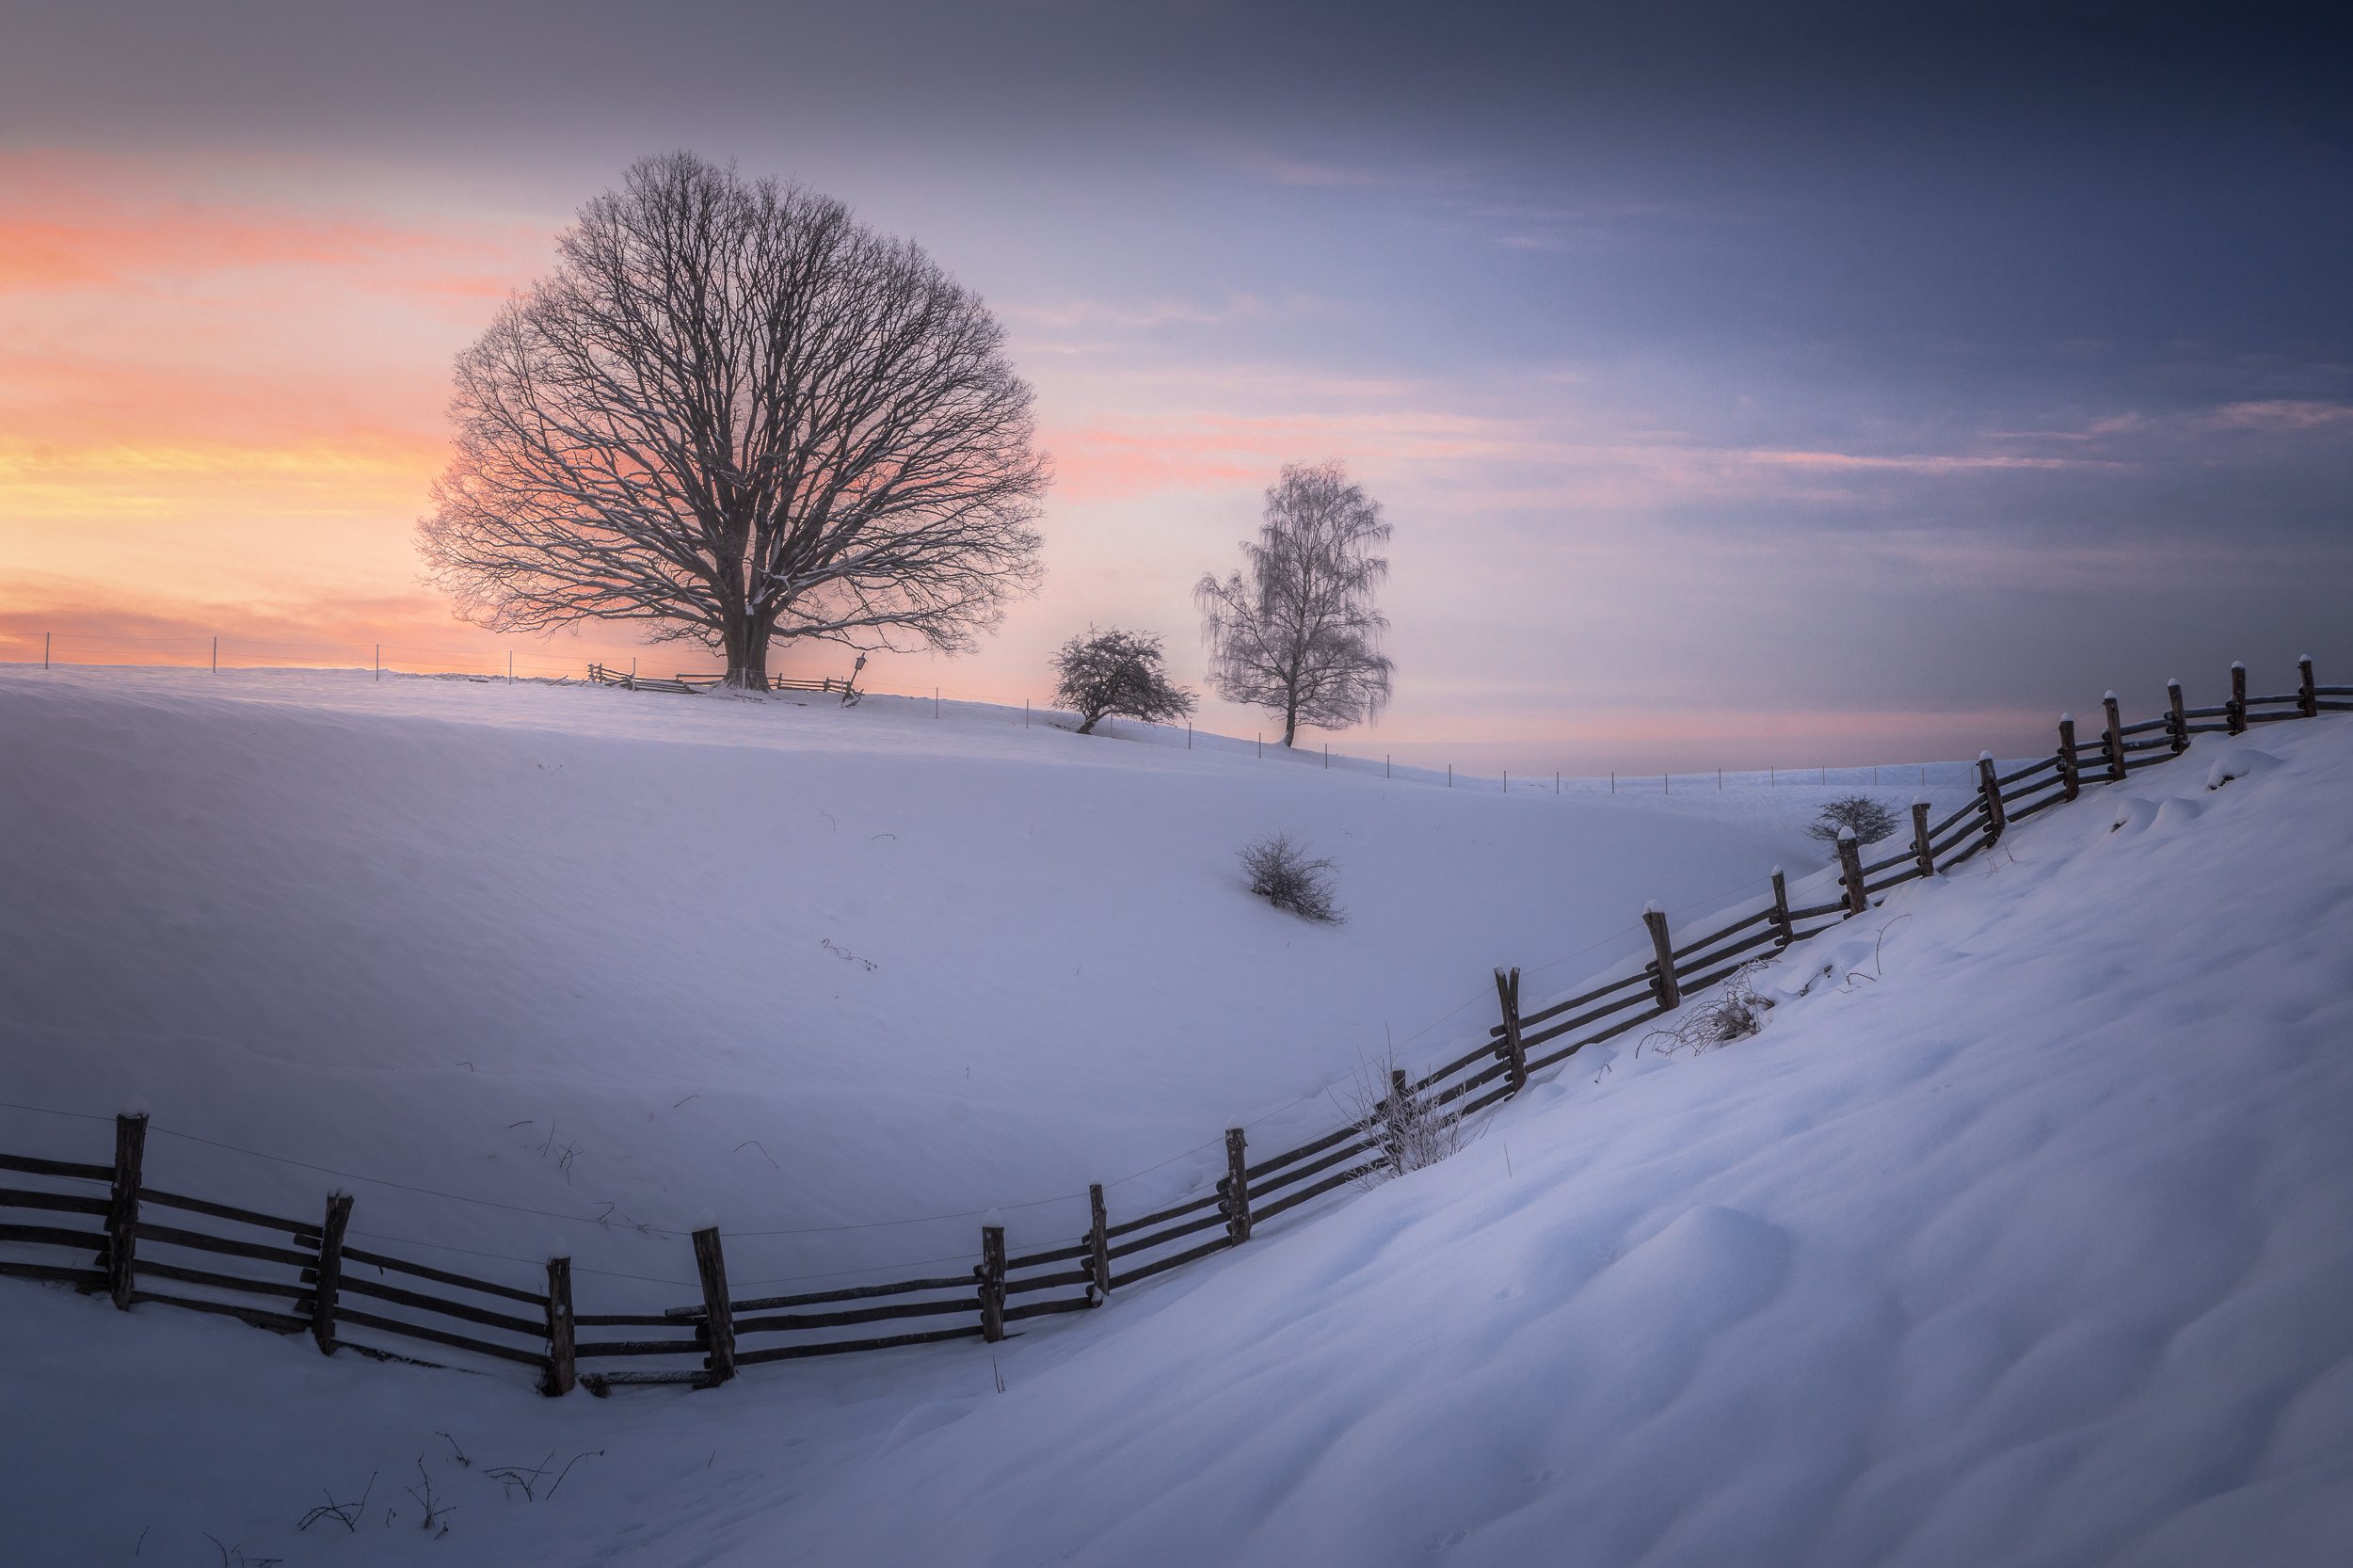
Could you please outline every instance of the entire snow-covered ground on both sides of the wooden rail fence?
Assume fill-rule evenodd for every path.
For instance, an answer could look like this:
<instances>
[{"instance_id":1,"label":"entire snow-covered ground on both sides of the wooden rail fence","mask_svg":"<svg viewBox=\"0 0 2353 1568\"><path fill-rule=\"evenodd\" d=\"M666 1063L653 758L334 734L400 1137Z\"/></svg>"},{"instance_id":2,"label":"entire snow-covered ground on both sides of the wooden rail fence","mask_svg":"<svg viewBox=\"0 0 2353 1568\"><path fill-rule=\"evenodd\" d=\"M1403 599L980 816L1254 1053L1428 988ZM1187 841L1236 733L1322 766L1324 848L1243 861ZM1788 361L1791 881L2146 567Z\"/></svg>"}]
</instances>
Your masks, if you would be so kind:
<instances>
[{"instance_id":1,"label":"entire snow-covered ground on both sides of the wooden rail fence","mask_svg":"<svg viewBox=\"0 0 2353 1568\"><path fill-rule=\"evenodd\" d=\"M144 1095L551 1208L562 1172L496 1125L525 1102L595 1128L569 1196L687 1203L767 1142L744 1128L788 1128L821 1177L762 1163L722 1220L1144 1165L1497 961L1598 942L1574 984L1642 897L1795 857L1812 808L1447 796L885 709L209 692L0 676L5 1097ZM1760 1036L1584 1052L1445 1165L998 1347L539 1401L0 1281L12 1561L2337 1563L2348 800L2344 720L2200 737L1793 949ZM1268 826L1329 836L1351 925L1231 885ZM708 1123L654 1104L694 1085ZM151 1158L200 1156L289 1182ZM581 1453L553 1497L489 1476ZM296 1530L369 1476L358 1533Z\"/></svg>"}]
</instances>

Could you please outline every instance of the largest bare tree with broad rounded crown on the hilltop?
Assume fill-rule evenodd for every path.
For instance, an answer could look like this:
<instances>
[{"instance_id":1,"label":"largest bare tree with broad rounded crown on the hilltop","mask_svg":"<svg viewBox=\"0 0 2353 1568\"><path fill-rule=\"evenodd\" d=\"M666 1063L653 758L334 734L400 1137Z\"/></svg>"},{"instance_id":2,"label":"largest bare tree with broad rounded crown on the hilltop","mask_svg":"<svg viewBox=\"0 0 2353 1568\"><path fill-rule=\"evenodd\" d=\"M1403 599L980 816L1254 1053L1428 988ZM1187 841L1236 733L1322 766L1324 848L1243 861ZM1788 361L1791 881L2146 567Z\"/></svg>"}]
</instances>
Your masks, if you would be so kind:
<instances>
[{"instance_id":1,"label":"largest bare tree with broad rounded crown on the hilltop","mask_svg":"<svg viewBox=\"0 0 2353 1568\"><path fill-rule=\"evenodd\" d=\"M1038 574L1045 457L988 308L826 195L694 153L581 207L456 363L419 525L468 619L965 650Z\"/></svg>"}]
</instances>

